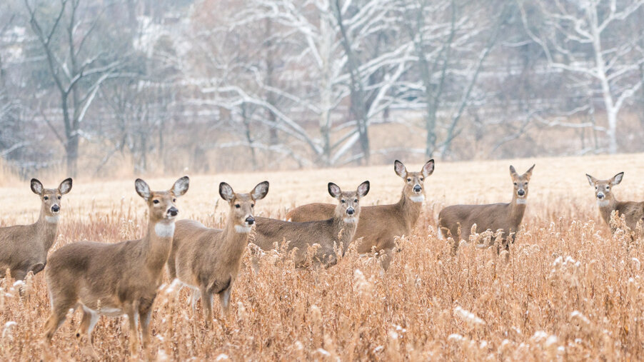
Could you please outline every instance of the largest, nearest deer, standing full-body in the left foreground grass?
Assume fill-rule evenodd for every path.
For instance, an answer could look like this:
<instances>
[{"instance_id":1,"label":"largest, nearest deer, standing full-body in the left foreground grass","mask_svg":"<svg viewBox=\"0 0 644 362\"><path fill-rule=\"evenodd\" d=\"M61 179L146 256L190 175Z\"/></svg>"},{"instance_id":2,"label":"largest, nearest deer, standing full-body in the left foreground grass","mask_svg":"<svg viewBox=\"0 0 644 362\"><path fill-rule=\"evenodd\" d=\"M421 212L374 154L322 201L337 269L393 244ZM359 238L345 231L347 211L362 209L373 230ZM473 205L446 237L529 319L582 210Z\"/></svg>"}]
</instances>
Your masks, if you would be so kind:
<instances>
[{"instance_id":1,"label":"largest, nearest deer, standing full-body in the left foreground grass","mask_svg":"<svg viewBox=\"0 0 644 362\"><path fill-rule=\"evenodd\" d=\"M136 179L136 193L148 206L148 226L143 238L119 243L79 241L69 243L49 256L45 279L51 302L51 315L44 326L44 341L51 338L65 321L68 311L83 310L76 338L86 335L89 352L96 358L91 331L99 316L127 315L129 350L139 349L137 319L141 321L143 348L150 341L150 321L156 292L163 281L178 209L176 198L188 191L188 176L178 179L168 191L151 191Z\"/></svg>"}]
</instances>

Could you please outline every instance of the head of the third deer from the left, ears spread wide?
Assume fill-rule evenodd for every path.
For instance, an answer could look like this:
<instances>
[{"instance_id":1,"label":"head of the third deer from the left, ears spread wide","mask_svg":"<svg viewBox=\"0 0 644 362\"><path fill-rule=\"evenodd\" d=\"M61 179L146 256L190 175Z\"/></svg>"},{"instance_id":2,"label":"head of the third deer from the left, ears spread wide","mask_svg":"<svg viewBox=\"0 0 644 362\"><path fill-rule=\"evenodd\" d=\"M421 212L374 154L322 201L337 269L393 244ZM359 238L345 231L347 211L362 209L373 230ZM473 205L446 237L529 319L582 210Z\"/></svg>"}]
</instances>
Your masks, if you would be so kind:
<instances>
[{"instance_id":1,"label":"head of the third deer from the left, ears spread wide","mask_svg":"<svg viewBox=\"0 0 644 362\"><path fill-rule=\"evenodd\" d=\"M238 233L248 233L255 223L255 201L268 193L268 181L258 183L250 193L235 193L228 183L219 183L219 196L231 206L230 217Z\"/></svg>"}]
</instances>

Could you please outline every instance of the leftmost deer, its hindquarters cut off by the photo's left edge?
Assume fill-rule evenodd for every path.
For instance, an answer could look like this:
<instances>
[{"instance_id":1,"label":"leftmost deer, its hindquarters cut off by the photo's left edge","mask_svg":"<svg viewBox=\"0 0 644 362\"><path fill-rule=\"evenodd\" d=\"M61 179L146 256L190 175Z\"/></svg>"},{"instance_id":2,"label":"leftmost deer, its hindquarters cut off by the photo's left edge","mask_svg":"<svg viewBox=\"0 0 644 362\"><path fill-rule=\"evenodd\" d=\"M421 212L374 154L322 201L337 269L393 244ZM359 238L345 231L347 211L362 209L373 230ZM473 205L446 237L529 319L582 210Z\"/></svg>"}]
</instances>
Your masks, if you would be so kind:
<instances>
[{"instance_id":1,"label":"leftmost deer, its hindquarters cut off by the photo's left edge","mask_svg":"<svg viewBox=\"0 0 644 362\"><path fill-rule=\"evenodd\" d=\"M23 280L30 271L39 273L47 263L47 252L58 236L58 221L62 196L71 190L71 179L58 188L43 188L40 181L31 179L31 191L40 197L40 216L31 225L0 228L0 278L6 269L11 277Z\"/></svg>"}]
</instances>

